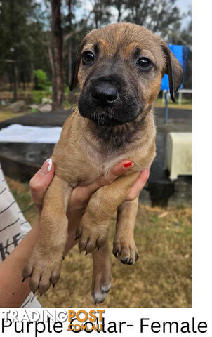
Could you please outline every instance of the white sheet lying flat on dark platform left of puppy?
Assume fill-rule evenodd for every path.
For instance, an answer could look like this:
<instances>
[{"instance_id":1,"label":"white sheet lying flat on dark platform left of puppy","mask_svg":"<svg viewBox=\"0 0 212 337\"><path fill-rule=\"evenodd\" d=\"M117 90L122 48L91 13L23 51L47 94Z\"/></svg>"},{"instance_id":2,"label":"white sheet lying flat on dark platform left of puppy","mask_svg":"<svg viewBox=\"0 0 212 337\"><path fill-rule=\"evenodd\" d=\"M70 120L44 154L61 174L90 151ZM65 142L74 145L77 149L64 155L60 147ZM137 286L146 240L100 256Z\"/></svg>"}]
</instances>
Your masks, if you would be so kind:
<instances>
[{"instance_id":1,"label":"white sheet lying flat on dark platform left of puppy","mask_svg":"<svg viewBox=\"0 0 212 337\"><path fill-rule=\"evenodd\" d=\"M57 143L61 127L39 127L11 124L0 130L0 143Z\"/></svg>"}]
</instances>

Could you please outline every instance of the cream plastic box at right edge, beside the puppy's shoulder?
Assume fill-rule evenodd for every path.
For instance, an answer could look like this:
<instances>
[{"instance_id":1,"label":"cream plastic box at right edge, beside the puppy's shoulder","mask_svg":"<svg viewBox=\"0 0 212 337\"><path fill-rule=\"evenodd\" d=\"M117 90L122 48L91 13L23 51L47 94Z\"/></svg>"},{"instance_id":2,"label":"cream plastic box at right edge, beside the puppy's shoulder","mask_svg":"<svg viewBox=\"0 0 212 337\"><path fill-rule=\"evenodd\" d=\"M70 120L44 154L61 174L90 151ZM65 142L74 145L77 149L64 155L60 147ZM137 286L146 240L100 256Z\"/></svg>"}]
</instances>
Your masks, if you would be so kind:
<instances>
[{"instance_id":1,"label":"cream plastic box at right edge, beside the puppy's shoulder","mask_svg":"<svg viewBox=\"0 0 212 337\"><path fill-rule=\"evenodd\" d=\"M192 133L170 132L166 138L166 169L170 179L192 175Z\"/></svg>"}]
</instances>

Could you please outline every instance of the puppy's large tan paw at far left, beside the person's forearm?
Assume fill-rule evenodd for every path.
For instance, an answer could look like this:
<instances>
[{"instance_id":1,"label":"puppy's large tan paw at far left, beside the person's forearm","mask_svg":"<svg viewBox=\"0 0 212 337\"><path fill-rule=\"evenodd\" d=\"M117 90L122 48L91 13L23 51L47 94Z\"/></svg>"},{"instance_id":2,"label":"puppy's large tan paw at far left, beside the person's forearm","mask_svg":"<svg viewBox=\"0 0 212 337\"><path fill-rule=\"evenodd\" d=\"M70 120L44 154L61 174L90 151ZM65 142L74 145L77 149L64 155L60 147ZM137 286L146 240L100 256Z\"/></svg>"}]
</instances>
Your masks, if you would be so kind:
<instances>
[{"instance_id":1,"label":"puppy's large tan paw at far left, beside the person's forearm","mask_svg":"<svg viewBox=\"0 0 212 337\"><path fill-rule=\"evenodd\" d=\"M27 265L22 271L23 281L30 277L29 288L35 293L39 291L40 296L46 293L51 284L53 287L60 278L60 268L62 263L62 255L59 253L46 253L41 255L39 251L34 249Z\"/></svg>"}]
</instances>

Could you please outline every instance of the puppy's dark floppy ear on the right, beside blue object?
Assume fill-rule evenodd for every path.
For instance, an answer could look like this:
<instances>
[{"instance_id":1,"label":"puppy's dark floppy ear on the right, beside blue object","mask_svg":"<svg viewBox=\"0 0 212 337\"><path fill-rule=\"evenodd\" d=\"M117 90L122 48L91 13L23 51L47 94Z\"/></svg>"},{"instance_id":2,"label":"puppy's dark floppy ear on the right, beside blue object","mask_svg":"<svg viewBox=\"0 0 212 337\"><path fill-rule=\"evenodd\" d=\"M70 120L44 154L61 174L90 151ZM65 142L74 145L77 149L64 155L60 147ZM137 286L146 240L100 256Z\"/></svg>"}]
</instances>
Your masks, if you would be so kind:
<instances>
[{"instance_id":1,"label":"puppy's dark floppy ear on the right, beside blue object","mask_svg":"<svg viewBox=\"0 0 212 337\"><path fill-rule=\"evenodd\" d=\"M166 62L165 74L168 74L169 91L171 99L175 102L175 95L183 81L183 67L165 43L163 44L163 51Z\"/></svg>"}]
</instances>

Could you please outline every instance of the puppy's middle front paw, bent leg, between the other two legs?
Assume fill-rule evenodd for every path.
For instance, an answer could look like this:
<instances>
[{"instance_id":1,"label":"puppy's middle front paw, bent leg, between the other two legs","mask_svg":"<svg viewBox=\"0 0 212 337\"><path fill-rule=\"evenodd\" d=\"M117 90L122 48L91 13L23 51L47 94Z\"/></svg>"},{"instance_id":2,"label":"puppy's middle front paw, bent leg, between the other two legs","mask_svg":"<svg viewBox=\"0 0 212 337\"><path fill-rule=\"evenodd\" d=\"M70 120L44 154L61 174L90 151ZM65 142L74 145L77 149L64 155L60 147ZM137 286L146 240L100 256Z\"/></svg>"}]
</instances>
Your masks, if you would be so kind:
<instances>
[{"instance_id":1,"label":"puppy's middle front paw, bent leg, between the other two legs","mask_svg":"<svg viewBox=\"0 0 212 337\"><path fill-rule=\"evenodd\" d=\"M95 249L100 249L107 241L108 227L109 222L97 222L88 212L84 213L76 232L80 253L92 253Z\"/></svg>"}]
</instances>

